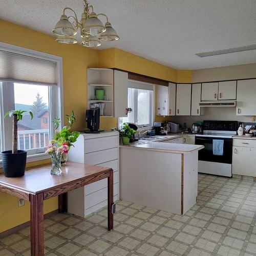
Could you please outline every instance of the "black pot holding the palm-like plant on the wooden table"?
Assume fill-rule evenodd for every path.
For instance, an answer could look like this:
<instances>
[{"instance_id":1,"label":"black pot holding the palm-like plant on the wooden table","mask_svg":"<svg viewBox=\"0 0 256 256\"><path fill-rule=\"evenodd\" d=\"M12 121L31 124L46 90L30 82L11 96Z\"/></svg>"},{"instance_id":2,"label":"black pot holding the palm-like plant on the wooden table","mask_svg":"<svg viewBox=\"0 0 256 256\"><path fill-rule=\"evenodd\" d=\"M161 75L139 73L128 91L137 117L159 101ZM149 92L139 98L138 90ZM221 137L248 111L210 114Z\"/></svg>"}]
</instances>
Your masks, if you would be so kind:
<instances>
[{"instance_id":1,"label":"black pot holding the palm-like plant on the wooden table","mask_svg":"<svg viewBox=\"0 0 256 256\"><path fill-rule=\"evenodd\" d=\"M27 151L18 150L12 154L11 150L2 152L5 177L21 177L25 174Z\"/></svg>"}]
</instances>

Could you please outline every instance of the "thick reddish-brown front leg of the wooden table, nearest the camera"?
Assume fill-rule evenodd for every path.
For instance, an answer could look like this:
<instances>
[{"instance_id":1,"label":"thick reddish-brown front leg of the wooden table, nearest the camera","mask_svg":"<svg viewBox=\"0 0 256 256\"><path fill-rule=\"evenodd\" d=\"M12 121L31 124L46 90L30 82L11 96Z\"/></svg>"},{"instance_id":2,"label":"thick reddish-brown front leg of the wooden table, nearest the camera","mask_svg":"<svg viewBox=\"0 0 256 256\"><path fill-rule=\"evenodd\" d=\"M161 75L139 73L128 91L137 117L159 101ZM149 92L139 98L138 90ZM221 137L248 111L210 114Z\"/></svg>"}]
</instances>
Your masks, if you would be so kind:
<instances>
[{"instance_id":1,"label":"thick reddish-brown front leg of the wooden table, nearest the camera","mask_svg":"<svg viewBox=\"0 0 256 256\"><path fill-rule=\"evenodd\" d=\"M44 197L30 195L31 256L44 255Z\"/></svg>"}]
</instances>

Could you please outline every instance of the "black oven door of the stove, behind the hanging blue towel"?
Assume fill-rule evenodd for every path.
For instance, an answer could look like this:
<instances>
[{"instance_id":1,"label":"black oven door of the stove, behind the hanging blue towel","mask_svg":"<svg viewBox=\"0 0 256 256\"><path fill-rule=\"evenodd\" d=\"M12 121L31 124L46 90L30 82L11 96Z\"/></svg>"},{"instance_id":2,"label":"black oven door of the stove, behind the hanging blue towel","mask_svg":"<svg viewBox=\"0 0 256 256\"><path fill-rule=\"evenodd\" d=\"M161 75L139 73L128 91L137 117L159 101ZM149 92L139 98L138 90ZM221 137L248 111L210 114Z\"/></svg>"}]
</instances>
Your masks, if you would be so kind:
<instances>
[{"instance_id":1,"label":"black oven door of the stove, behind the hanging blue towel","mask_svg":"<svg viewBox=\"0 0 256 256\"><path fill-rule=\"evenodd\" d=\"M212 140L224 140L223 155L214 155ZM198 153L198 160L217 162L217 163L232 163L232 139L231 138L211 138L211 137L196 137L196 144L203 145L204 148Z\"/></svg>"}]
</instances>

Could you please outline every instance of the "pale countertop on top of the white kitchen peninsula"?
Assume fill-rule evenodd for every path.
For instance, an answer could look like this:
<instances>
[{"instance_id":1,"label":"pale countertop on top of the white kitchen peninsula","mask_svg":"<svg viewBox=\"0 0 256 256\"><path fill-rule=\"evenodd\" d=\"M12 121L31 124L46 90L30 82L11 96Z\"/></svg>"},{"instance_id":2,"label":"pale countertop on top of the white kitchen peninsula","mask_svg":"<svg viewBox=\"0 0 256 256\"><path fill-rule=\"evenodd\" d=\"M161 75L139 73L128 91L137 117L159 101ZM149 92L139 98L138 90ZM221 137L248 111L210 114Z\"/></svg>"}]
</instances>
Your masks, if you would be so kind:
<instances>
[{"instance_id":1,"label":"pale countertop on top of the white kitchen peninsula","mask_svg":"<svg viewBox=\"0 0 256 256\"><path fill-rule=\"evenodd\" d=\"M167 138L165 138L166 140ZM191 145L191 144L177 144L177 143L167 143L167 142L159 142L157 141L136 141L131 143L130 145L120 145L120 147L125 148L134 148L138 150L150 150L150 151L160 151L160 152L168 152L168 153L176 153L176 154L188 154L194 151L199 151L204 148L202 145Z\"/></svg>"}]
</instances>

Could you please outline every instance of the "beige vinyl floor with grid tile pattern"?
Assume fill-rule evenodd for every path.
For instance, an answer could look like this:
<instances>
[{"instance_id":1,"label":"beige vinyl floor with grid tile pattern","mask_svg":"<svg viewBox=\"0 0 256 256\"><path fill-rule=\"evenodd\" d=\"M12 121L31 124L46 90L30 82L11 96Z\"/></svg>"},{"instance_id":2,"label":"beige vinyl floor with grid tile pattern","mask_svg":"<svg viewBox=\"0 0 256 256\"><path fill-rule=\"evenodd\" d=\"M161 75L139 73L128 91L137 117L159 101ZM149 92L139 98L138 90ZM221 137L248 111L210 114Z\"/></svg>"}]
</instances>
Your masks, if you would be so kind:
<instances>
[{"instance_id":1,"label":"beige vinyl floor with grid tile pattern","mask_svg":"<svg viewBox=\"0 0 256 256\"><path fill-rule=\"evenodd\" d=\"M179 216L119 201L114 230L106 208L45 220L45 255L256 255L256 182L199 175L197 204ZM30 255L30 230L0 240L0 255Z\"/></svg>"}]
</instances>

